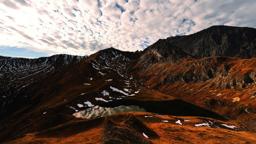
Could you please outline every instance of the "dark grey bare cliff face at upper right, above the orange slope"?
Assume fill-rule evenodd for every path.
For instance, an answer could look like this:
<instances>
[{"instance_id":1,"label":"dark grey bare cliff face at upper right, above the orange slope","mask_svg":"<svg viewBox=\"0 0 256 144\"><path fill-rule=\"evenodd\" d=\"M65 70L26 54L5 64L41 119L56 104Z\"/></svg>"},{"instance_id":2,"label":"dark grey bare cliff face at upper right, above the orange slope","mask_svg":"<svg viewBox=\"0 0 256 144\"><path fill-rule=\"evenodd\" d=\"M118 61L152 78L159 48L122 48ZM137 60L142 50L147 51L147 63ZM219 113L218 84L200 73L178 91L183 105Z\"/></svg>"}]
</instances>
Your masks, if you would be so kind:
<instances>
[{"instance_id":1,"label":"dark grey bare cliff face at upper right, above the orange slope","mask_svg":"<svg viewBox=\"0 0 256 144\"><path fill-rule=\"evenodd\" d=\"M256 57L256 29L254 28L212 26L193 35L174 36L164 41L180 47L196 58Z\"/></svg>"}]
</instances>

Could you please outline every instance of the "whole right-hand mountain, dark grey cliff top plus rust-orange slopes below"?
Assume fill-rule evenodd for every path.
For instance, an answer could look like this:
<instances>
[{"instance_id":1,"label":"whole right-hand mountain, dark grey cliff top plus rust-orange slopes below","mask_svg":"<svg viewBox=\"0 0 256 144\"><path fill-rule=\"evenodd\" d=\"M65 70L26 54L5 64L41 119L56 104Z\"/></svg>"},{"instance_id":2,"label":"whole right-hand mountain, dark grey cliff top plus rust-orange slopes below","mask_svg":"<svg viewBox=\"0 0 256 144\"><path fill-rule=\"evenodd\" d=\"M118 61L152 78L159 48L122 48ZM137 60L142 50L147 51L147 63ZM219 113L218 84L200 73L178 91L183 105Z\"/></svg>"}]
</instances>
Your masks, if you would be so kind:
<instances>
[{"instance_id":1,"label":"whole right-hand mountain, dark grey cliff top plus rust-orange slopes below","mask_svg":"<svg viewBox=\"0 0 256 144\"><path fill-rule=\"evenodd\" d=\"M227 33L229 37L235 34L242 35L241 31L250 33L250 31L254 30L251 28L213 26L193 35L159 40L156 44L150 45L143 51L144 53L138 60L136 67L134 67L134 70L138 71L138 82L145 84L150 89L159 90L164 94L179 97L187 102L214 110L228 118L239 119L241 127L247 127L246 129L255 131L256 124L253 121L255 120L254 114L256 112L256 69L255 58L251 58L254 57L253 54L247 53L250 59L227 57L232 55L225 54L225 52L222 53L224 56L216 57L213 54L214 57L198 59L198 57L204 57L203 53L206 50L200 51L203 55L198 56L193 52L189 53L188 49L182 49L177 46L182 43L187 46L193 45L194 43L189 41L189 38L192 38L194 42L200 42L196 44L205 43L209 47L213 47L211 40L207 39L212 36L212 33L216 38L221 38L223 33ZM244 35L246 36L246 34ZM255 40L256 38L253 35L249 35L249 37L250 40ZM177 43L172 42L175 38L177 38ZM241 42L243 40L231 40L228 41L228 45L243 47L244 44ZM234 51L236 51L236 47L233 47ZM221 49L226 48L218 45L212 49L222 51ZM169 55L166 54L167 49ZM194 45L193 49L199 48ZM241 54L242 51L243 49L239 49L238 53ZM245 56L244 54L239 56L238 53L234 56ZM249 120L248 117L250 117Z\"/></svg>"}]
</instances>

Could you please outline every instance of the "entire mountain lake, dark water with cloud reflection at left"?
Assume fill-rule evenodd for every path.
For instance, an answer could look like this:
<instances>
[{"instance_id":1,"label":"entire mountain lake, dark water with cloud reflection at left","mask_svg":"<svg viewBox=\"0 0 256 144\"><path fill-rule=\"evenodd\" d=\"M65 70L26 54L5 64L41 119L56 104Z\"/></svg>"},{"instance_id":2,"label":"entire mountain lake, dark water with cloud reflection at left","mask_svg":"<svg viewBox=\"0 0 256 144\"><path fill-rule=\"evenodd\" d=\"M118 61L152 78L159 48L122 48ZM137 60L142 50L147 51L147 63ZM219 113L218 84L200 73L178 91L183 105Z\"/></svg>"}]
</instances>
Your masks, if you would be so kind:
<instances>
[{"instance_id":1,"label":"entire mountain lake, dark water with cloud reflection at left","mask_svg":"<svg viewBox=\"0 0 256 144\"><path fill-rule=\"evenodd\" d=\"M141 100L114 100L74 113L74 116L83 118L97 118L100 116L113 115L125 111L146 111L163 115L174 116L202 116L217 120L227 120L225 117L209 111L208 109L195 106L183 100L166 101L141 101Z\"/></svg>"}]
</instances>

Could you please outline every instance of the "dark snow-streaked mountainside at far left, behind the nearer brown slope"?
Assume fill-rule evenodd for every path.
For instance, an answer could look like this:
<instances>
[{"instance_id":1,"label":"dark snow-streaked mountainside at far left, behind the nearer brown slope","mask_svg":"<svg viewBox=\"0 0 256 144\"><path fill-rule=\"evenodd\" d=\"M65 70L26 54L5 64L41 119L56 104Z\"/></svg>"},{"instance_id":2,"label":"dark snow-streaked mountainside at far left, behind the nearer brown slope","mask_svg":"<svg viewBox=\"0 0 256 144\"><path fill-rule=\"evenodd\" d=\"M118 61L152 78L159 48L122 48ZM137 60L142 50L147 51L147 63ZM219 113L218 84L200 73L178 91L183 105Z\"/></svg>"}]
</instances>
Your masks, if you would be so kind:
<instances>
[{"instance_id":1,"label":"dark snow-streaked mountainside at far left, behind the nearer brown slope","mask_svg":"<svg viewBox=\"0 0 256 144\"><path fill-rule=\"evenodd\" d=\"M0 106L1 110L12 105L24 95L24 88L52 74L59 67L72 65L86 56L67 54L54 55L49 58L26 59L0 57Z\"/></svg>"}]
</instances>

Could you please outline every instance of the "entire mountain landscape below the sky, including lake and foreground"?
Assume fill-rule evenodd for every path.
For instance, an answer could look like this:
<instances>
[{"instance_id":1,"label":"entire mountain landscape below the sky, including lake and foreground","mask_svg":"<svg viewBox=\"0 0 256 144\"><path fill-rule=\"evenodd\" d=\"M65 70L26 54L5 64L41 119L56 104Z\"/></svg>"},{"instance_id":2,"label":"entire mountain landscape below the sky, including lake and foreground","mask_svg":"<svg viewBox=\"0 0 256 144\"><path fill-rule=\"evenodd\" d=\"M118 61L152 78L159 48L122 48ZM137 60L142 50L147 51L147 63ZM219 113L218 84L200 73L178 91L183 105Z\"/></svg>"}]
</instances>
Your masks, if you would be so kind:
<instances>
[{"instance_id":1,"label":"entire mountain landscape below the sky, including lake and foreground","mask_svg":"<svg viewBox=\"0 0 256 144\"><path fill-rule=\"evenodd\" d=\"M212 26L140 52L0 56L0 141L253 143L254 31Z\"/></svg>"}]
</instances>

